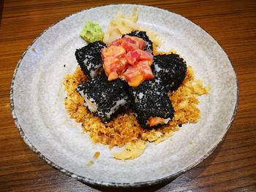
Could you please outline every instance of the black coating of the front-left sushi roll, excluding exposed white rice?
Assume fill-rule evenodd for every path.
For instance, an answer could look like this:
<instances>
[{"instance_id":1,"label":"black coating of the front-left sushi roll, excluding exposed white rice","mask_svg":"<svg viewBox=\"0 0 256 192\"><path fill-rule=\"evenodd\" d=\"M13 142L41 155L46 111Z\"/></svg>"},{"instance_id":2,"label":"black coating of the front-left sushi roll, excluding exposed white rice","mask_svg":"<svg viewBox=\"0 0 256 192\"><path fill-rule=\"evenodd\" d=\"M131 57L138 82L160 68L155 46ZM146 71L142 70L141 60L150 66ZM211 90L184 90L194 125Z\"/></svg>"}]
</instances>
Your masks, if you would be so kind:
<instances>
[{"instance_id":1,"label":"black coating of the front-left sushi roll, excluding exposed white rice","mask_svg":"<svg viewBox=\"0 0 256 192\"><path fill-rule=\"evenodd\" d=\"M122 80L108 81L105 74L78 85L77 91L81 96L87 94L90 99L94 99L93 103L98 106L94 115L101 118L103 123L108 123L118 112L129 107L127 84ZM115 112L108 117L107 113L116 106L120 99L124 99L127 103L118 106Z\"/></svg>"}]
</instances>

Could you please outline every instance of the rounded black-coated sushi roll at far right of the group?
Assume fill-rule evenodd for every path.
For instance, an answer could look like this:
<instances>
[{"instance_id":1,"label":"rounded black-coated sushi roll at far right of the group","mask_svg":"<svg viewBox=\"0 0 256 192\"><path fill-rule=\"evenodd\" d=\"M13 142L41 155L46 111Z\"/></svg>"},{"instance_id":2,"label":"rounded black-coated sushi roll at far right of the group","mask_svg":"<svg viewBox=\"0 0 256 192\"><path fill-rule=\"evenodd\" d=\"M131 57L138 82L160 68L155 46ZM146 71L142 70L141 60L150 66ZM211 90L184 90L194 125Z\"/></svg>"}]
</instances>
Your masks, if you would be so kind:
<instances>
[{"instance_id":1,"label":"rounded black-coated sushi roll at far right of the group","mask_svg":"<svg viewBox=\"0 0 256 192\"><path fill-rule=\"evenodd\" d=\"M177 54L155 55L152 71L156 77L162 80L167 91L174 91L185 78L187 64Z\"/></svg>"}]
</instances>

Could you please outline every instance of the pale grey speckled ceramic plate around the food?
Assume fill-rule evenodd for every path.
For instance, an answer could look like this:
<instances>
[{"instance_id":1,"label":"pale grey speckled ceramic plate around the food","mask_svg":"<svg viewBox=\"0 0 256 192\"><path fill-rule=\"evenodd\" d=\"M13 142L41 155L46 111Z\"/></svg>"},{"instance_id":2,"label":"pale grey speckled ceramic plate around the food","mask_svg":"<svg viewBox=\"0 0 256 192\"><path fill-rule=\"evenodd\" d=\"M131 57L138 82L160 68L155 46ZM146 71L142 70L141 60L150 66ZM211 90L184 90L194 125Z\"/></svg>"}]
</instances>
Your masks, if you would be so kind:
<instances>
[{"instance_id":1,"label":"pale grey speckled ceramic plate around the food","mask_svg":"<svg viewBox=\"0 0 256 192\"><path fill-rule=\"evenodd\" d=\"M96 7L64 18L28 47L13 75L12 115L21 137L48 164L86 183L128 187L177 177L217 147L236 113L236 74L222 47L181 15L138 6L138 23L157 31L164 40L161 49L175 49L195 69L196 77L211 85L211 92L200 97L201 118L159 145L148 144L145 153L132 161L114 159L108 146L93 145L87 134L81 134L80 124L64 109L62 86L64 74L77 66L75 49L85 45L80 29L86 20L92 20L106 30L118 10L131 15L133 7ZM86 166L97 151L101 153L97 161Z\"/></svg>"}]
</instances>

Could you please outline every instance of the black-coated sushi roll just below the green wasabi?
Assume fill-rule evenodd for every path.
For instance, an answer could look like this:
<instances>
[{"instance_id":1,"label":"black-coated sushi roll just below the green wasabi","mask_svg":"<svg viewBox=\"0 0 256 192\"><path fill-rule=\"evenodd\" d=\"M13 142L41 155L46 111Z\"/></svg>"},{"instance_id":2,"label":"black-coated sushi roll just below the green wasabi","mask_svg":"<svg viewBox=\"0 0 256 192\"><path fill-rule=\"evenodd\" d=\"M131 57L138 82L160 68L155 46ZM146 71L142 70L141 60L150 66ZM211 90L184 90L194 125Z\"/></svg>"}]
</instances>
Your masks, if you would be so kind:
<instances>
[{"instance_id":1,"label":"black-coated sushi roll just below the green wasabi","mask_svg":"<svg viewBox=\"0 0 256 192\"><path fill-rule=\"evenodd\" d=\"M101 49L106 45L103 42L91 42L75 51L75 58L84 74L91 79L102 72Z\"/></svg>"}]
</instances>

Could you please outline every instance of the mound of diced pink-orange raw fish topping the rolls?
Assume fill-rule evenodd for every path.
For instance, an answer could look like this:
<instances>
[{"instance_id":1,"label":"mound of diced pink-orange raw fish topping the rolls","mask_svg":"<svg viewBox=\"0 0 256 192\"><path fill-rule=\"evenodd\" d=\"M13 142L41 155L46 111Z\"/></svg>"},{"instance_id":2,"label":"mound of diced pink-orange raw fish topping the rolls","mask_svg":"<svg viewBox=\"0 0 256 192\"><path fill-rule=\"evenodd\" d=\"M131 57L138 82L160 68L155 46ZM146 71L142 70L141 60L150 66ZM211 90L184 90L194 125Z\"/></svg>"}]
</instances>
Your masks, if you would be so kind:
<instances>
[{"instance_id":1,"label":"mound of diced pink-orange raw fish topping the rolls","mask_svg":"<svg viewBox=\"0 0 256 192\"><path fill-rule=\"evenodd\" d=\"M103 68L108 80L124 77L128 84L137 87L144 80L154 78L150 65L153 55L143 50L146 42L125 35L102 49Z\"/></svg>"}]
</instances>

